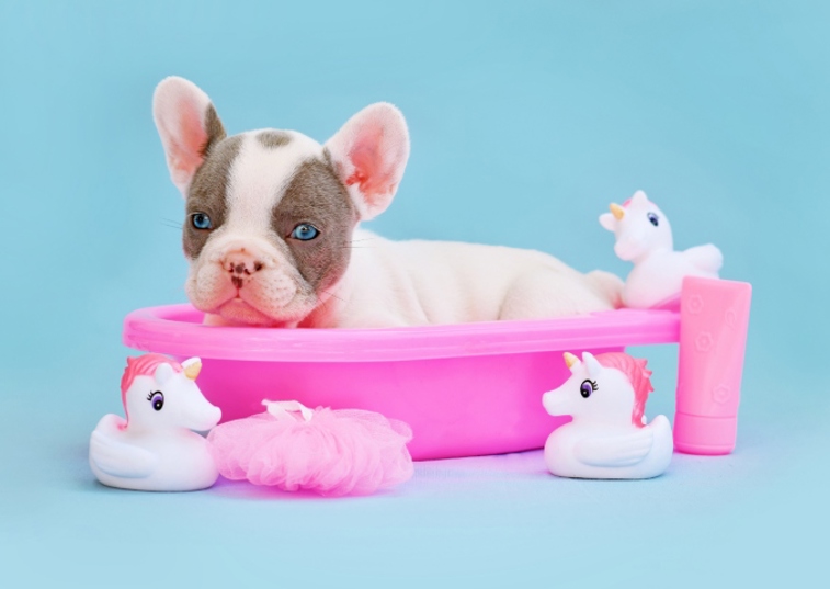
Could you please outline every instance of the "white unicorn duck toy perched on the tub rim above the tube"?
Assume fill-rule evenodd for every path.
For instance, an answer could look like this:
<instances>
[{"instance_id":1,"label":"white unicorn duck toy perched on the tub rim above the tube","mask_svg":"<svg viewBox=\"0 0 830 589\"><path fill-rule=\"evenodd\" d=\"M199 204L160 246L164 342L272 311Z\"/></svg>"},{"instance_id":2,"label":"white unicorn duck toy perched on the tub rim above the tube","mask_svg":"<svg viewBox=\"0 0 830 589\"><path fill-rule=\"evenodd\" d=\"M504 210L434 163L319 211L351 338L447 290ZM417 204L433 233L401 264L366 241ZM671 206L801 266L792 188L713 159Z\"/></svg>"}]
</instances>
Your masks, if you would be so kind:
<instances>
[{"instance_id":1,"label":"white unicorn duck toy perched on the tub rim above the tube","mask_svg":"<svg viewBox=\"0 0 830 589\"><path fill-rule=\"evenodd\" d=\"M611 213L601 215L600 224L614 231L614 252L634 262L623 287L626 307L678 304L685 276L717 279L724 265L724 256L712 243L674 251L669 219L641 190L622 206L612 203Z\"/></svg>"}]
</instances>

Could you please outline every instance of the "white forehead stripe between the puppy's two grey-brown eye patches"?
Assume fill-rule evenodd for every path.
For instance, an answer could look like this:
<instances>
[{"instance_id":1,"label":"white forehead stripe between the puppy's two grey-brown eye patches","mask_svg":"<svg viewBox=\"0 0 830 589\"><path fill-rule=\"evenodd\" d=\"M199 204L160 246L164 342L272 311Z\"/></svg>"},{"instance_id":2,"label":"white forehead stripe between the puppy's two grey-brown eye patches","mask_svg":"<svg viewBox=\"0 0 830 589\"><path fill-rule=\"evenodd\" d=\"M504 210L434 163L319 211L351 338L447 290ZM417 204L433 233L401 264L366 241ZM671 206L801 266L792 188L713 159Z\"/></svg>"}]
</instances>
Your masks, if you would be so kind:
<instances>
[{"instance_id":1,"label":"white forehead stripe between the puppy's two grey-brown eye patches","mask_svg":"<svg viewBox=\"0 0 830 589\"><path fill-rule=\"evenodd\" d=\"M265 147L259 137L265 131L269 129L242 135L228 190L228 224L260 234L269 231L271 211L296 169L322 154L320 144L295 132L282 132L289 135L289 140L278 148Z\"/></svg>"}]
</instances>

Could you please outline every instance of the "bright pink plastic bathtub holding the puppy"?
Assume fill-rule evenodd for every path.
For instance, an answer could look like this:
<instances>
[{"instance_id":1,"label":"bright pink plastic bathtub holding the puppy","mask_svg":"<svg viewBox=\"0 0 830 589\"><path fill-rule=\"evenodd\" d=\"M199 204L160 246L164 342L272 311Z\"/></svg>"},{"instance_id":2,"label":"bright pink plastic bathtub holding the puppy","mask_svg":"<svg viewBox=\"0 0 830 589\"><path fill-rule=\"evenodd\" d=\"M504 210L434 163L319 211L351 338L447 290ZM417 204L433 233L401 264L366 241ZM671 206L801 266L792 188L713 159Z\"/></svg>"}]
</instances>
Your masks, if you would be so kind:
<instances>
[{"instance_id":1,"label":"bright pink plastic bathtub holding the puppy","mask_svg":"<svg viewBox=\"0 0 830 589\"><path fill-rule=\"evenodd\" d=\"M202 318L190 305L138 309L124 320L124 343L202 358L200 387L224 420L262 411L265 398L371 409L412 427L416 460L542 448L567 420L542 407L542 394L568 375L564 351L680 337L670 310L342 330L208 327Z\"/></svg>"}]
</instances>

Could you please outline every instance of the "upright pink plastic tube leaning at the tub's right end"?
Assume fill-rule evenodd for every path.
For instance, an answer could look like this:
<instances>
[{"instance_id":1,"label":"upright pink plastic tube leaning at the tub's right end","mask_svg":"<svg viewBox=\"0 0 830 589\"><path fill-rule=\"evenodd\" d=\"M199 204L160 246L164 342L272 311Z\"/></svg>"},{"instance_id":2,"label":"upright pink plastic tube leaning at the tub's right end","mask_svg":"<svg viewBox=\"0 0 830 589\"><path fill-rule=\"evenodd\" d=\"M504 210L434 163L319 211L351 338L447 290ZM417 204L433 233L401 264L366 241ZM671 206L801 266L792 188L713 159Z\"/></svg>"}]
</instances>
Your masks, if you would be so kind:
<instances>
[{"instance_id":1,"label":"upright pink plastic tube leaning at the tub's right end","mask_svg":"<svg viewBox=\"0 0 830 589\"><path fill-rule=\"evenodd\" d=\"M686 277L680 305L674 448L729 454L738 431L752 285Z\"/></svg>"}]
</instances>

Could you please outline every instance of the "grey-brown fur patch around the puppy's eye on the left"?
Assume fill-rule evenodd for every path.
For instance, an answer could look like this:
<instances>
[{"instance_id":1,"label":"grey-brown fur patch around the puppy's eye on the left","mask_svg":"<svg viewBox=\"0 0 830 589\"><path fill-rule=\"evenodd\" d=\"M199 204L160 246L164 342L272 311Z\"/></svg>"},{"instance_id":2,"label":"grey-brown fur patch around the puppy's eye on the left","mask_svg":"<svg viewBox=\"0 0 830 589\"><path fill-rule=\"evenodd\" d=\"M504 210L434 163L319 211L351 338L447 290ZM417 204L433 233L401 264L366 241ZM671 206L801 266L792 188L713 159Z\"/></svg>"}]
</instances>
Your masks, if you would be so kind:
<instances>
[{"instance_id":1,"label":"grey-brown fur patch around the puppy's eye on the left","mask_svg":"<svg viewBox=\"0 0 830 589\"><path fill-rule=\"evenodd\" d=\"M208 113L211 110L213 106ZM211 234L225 223L228 175L241 145L242 137L239 135L223 137L218 143L208 140L205 161L193 174L193 181L187 191L186 217L182 227L182 247L184 254L191 260L198 257ZM211 217L213 228L196 229L192 222L195 213L205 213Z\"/></svg>"}]
</instances>

